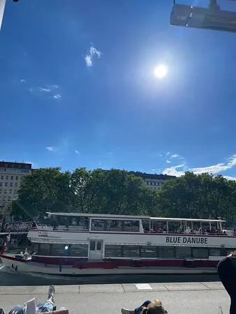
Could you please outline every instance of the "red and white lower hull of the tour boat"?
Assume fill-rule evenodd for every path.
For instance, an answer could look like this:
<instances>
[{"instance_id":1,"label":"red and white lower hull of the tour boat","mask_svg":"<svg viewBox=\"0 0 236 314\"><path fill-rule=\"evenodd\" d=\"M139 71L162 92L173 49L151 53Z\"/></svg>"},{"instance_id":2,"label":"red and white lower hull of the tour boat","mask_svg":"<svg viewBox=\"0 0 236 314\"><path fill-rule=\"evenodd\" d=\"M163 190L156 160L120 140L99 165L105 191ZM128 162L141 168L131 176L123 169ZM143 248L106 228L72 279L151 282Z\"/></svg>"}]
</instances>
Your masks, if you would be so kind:
<instances>
[{"instance_id":1,"label":"red and white lower hull of the tour boat","mask_svg":"<svg viewBox=\"0 0 236 314\"><path fill-rule=\"evenodd\" d=\"M115 274L216 274L216 267L176 267L175 261L172 266L160 267L110 267L108 263L98 264L97 267L77 267L59 264L41 264L27 260L19 260L8 255L1 255L3 267L1 271L10 273L39 273L61 276L83 276L83 275L115 275Z\"/></svg>"}]
</instances>

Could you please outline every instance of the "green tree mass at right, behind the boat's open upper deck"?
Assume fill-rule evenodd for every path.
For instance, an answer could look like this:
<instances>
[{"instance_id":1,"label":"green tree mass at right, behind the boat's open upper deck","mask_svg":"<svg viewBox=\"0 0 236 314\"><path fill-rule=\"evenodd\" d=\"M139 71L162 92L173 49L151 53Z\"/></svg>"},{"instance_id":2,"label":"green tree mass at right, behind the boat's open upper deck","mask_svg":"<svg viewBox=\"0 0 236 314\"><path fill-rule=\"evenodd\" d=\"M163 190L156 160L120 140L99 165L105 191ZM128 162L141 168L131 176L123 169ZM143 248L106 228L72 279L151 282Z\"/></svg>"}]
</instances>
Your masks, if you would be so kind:
<instances>
[{"instance_id":1,"label":"green tree mass at right, behind the boat's open upper deck","mask_svg":"<svg viewBox=\"0 0 236 314\"><path fill-rule=\"evenodd\" d=\"M212 174L193 174L166 181L158 205L170 217L236 218L236 181Z\"/></svg>"}]
</instances>

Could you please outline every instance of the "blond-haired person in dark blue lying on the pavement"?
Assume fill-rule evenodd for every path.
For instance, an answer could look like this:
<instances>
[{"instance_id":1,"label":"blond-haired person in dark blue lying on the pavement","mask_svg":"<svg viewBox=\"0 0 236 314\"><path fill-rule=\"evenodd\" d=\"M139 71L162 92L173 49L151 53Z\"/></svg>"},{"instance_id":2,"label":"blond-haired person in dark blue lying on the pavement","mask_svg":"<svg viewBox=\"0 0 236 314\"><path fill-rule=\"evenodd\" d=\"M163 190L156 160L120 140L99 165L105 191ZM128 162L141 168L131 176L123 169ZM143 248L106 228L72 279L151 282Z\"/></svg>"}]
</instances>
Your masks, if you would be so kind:
<instances>
[{"instance_id":1,"label":"blond-haired person in dark blue lying on the pavement","mask_svg":"<svg viewBox=\"0 0 236 314\"><path fill-rule=\"evenodd\" d=\"M128 310L127 308L121 308L122 314L168 314L163 308L160 300L156 299L153 302L150 300L145 301L141 306L135 308L135 310Z\"/></svg>"}]
</instances>

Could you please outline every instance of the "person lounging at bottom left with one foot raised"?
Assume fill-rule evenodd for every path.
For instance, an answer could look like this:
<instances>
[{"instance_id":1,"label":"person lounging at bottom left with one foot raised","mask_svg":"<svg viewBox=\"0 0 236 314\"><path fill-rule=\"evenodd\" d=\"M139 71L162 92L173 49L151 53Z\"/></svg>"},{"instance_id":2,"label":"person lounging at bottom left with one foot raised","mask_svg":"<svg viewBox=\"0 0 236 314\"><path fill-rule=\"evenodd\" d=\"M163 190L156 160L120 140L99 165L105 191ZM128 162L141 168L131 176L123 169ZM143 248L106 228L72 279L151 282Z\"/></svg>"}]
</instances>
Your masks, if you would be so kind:
<instances>
[{"instance_id":1,"label":"person lounging at bottom left with one foot raised","mask_svg":"<svg viewBox=\"0 0 236 314\"><path fill-rule=\"evenodd\" d=\"M35 299L27 301L23 306L15 306L12 310L10 310L9 314L35 314L35 313L45 313L52 312L56 309L54 305L54 294L55 288L54 285L50 285L48 289L48 297L45 303L43 304L35 304Z\"/></svg>"}]
</instances>

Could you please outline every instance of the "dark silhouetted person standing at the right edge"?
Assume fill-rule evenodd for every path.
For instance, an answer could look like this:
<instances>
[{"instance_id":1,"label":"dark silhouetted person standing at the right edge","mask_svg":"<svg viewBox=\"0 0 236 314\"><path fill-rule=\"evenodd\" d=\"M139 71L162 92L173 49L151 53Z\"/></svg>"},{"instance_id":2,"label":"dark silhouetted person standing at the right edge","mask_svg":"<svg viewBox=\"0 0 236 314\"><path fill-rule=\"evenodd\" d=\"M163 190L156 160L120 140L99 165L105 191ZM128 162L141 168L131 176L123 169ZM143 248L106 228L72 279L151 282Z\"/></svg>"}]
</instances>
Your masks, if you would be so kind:
<instances>
[{"instance_id":1,"label":"dark silhouetted person standing at the right edge","mask_svg":"<svg viewBox=\"0 0 236 314\"><path fill-rule=\"evenodd\" d=\"M236 251L219 262L217 271L231 299L230 314L236 314Z\"/></svg>"}]
</instances>

